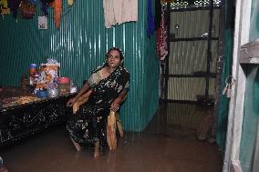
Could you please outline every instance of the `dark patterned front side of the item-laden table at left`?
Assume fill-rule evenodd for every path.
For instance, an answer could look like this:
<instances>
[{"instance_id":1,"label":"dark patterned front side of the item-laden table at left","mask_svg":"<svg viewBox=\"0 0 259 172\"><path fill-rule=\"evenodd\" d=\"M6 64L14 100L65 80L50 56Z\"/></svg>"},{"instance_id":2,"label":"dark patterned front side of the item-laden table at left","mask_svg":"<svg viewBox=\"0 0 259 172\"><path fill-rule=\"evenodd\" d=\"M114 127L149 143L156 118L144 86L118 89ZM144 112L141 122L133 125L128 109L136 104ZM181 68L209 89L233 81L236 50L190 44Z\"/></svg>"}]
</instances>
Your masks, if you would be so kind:
<instances>
[{"instance_id":1,"label":"dark patterned front side of the item-laden table at left","mask_svg":"<svg viewBox=\"0 0 259 172\"><path fill-rule=\"evenodd\" d=\"M67 100L74 95L45 98L0 110L0 147L14 144L50 126L65 123L72 115Z\"/></svg>"}]
</instances>

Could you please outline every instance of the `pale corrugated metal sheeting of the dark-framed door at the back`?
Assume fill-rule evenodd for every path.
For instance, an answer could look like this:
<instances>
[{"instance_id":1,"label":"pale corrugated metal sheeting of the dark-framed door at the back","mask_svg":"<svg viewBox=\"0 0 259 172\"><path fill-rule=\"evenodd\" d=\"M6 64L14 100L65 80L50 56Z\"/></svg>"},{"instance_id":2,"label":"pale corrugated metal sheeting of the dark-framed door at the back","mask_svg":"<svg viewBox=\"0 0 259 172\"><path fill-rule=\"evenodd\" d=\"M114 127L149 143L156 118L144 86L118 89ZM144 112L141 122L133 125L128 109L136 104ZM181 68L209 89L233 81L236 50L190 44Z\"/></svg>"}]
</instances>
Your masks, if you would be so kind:
<instances>
[{"instance_id":1,"label":"pale corrugated metal sheeting of the dark-framed door at the back","mask_svg":"<svg viewBox=\"0 0 259 172\"><path fill-rule=\"evenodd\" d=\"M171 35L175 38L207 36L209 31L209 10L183 11L171 13ZM219 35L219 10L214 10L212 36ZM218 41L212 41L211 72L216 72ZM192 75L205 73L207 68L208 41L171 42L169 74ZM205 95L205 78L170 78L168 98L173 100L196 101L196 95ZM214 95L215 81L209 80L209 95Z\"/></svg>"}]
</instances>

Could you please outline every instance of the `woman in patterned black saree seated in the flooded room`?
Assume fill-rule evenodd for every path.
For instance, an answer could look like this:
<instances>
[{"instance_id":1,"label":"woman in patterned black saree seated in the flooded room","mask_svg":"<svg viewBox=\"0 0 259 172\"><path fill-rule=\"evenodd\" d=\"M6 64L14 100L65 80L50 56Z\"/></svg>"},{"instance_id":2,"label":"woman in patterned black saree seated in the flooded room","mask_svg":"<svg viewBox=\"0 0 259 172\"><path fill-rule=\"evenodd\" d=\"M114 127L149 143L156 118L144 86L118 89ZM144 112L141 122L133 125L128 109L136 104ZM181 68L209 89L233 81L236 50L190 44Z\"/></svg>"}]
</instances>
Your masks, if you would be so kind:
<instances>
[{"instance_id":1,"label":"woman in patterned black saree seated in the flooded room","mask_svg":"<svg viewBox=\"0 0 259 172\"><path fill-rule=\"evenodd\" d=\"M73 106L81 95L92 89L88 102L68 121L67 130L78 151L82 146L93 144L95 158L99 157L99 148L106 143L109 111L119 110L119 104L129 90L129 72L123 67L123 58L119 48L110 48L104 66L98 67L78 95L67 102L67 106Z\"/></svg>"}]
</instances>

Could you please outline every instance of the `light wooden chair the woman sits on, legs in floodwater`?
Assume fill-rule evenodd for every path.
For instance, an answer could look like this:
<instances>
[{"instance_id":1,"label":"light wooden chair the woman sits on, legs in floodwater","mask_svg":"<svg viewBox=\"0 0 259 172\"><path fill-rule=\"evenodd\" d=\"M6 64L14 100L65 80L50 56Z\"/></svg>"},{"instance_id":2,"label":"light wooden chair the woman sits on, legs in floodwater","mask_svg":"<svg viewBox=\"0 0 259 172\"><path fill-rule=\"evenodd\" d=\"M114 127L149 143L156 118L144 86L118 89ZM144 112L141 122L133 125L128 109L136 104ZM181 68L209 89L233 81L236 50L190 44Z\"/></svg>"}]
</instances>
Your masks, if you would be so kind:
<instances>
[{"instance_id":1,"label":"light wooden chair the woman sits on, legs in floodwater","mask_svg":"<svg viewBox=\"0 0 259 172\"><path fill-rule=\"evenodd\" d=\"M88 90L85 94L83 94L82 96L80 96L78 98L78 101L73 105L73 113L75 114L78 109L79 106L81 106L82 104L86 103L88 101L88 96L91 94L92 90ZM127 96L123 97L122 102L126 99ZM115 119L112 120L112 117L115 116ZM116 120L116 121L115 121ZM114 126L113 122L114 121ZM123 137L124 132L123 132L123 127L121 124L121 121L119 119L119 112L113 112L110 111L109 112L109 116L108 116L108 127L107 127L107 140L108 140L108 144L109 144L109 149L115 149L117 147L117 143L116 143L116 126L118 127L119 130L119 136ZM111 127L110 127L111 126ZM110 128L113 128L110 130Z\"/></svg>"}]
</instances>

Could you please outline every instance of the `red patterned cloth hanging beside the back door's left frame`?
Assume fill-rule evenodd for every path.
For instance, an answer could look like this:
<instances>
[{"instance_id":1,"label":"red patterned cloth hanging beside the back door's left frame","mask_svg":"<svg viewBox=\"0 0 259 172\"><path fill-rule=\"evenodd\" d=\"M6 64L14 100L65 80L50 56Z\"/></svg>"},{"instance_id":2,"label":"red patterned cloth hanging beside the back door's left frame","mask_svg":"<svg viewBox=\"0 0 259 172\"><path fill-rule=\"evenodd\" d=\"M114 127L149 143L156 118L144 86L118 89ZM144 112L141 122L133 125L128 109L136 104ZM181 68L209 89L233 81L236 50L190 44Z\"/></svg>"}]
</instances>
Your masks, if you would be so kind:
<instances>
[{"instance_id":1,"label":"red patterned cloth hanging beside the back door's left frame","mask_svg":"<svg viewBox=\"0 0 259 172\"><path fill-rule=\"evenodd\" d=\"M161 27L157 30L157 52L158 57L164 60L168 55L168 33L167 25L165 20L165 8L161 7Z\"/></svg>"}]
</instances>

